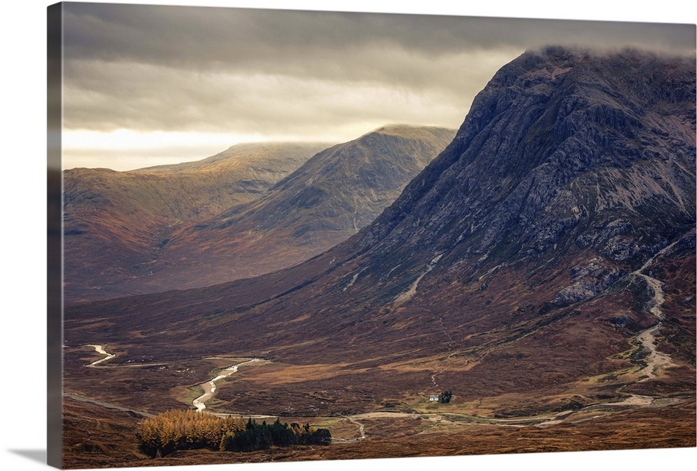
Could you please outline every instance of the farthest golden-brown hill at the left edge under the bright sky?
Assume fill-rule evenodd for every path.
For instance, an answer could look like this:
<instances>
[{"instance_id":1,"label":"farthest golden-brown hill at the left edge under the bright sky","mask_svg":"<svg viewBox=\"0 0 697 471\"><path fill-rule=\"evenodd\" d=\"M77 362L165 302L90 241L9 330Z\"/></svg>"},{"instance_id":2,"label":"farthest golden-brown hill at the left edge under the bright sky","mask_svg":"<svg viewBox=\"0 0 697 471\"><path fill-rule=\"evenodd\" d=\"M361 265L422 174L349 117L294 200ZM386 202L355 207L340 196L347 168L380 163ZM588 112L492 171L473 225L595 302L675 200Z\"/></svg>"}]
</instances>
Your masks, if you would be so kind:
<instances>
[{"instance_id":1,"label":"farthest golden-brown hill at the left edge under the bright sky","mask_svg":"<svg viewBox=\"0 0 697 471\"><path fill-rule=\"evenodd\" d=\"M198 162L63 171L66 299L123 295L177 226L258 198L328 144L239 144Z\"/></svg>"}]
</instances>

